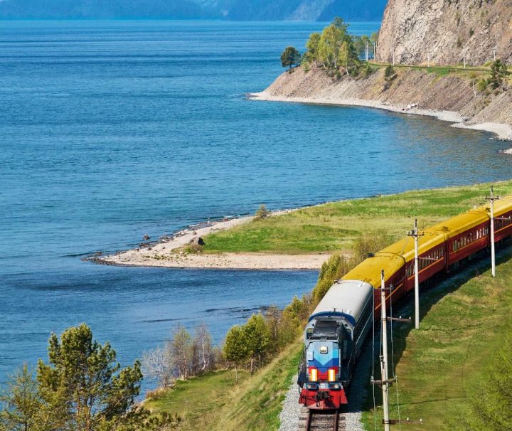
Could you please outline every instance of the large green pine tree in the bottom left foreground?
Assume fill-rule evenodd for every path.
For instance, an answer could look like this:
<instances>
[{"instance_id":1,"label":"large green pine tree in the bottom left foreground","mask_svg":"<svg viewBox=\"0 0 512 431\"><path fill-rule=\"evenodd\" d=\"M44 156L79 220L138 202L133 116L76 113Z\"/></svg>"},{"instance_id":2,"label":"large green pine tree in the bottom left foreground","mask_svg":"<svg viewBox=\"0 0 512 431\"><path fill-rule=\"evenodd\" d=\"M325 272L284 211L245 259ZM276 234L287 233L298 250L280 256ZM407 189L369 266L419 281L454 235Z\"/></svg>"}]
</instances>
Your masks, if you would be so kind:
<instances>
[{"instance_id":1,"label":"large green pine tree in the bottom left foreground","mask_svg":"<svg viewBox=\"0 0 512 431\"><path fill-rule=\"evenodd\" d=\"M110 344L92 339L89 326L50 336L48 364L38 363L37 380L43 414L58 430L112 430L130 415L139 395L138 361L121 368Z\"/></svg>"}]
</instances>

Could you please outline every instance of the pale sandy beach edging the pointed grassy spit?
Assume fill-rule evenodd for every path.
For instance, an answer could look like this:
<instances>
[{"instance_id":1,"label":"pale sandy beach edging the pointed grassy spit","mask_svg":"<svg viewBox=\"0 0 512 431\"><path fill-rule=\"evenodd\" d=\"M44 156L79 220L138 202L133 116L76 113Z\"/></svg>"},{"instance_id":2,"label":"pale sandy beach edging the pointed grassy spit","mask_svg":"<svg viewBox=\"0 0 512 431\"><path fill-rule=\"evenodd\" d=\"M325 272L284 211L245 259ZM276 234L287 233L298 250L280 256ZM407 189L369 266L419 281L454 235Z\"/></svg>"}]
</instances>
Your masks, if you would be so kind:
<instances>
[{"instance_id":1,"label":"pale sandy beach edging the pointed grassy spit","mask_svg":"<svg viewBox=\"0 0 512 431\"><path fill-rule=\"evenodd\" d=\"M275 211L270 217L296 209ZM140 248L117 252L114 255L90 257L89 260L106 265L126 265L169 268L211 268L232 270L319 270L329 254L277 255L272 253L188 253L184 245L208 233L226 230L249 223L252 216L210 221L193 225L158 243L146 243Z\"/></svg>"}]
</instances>

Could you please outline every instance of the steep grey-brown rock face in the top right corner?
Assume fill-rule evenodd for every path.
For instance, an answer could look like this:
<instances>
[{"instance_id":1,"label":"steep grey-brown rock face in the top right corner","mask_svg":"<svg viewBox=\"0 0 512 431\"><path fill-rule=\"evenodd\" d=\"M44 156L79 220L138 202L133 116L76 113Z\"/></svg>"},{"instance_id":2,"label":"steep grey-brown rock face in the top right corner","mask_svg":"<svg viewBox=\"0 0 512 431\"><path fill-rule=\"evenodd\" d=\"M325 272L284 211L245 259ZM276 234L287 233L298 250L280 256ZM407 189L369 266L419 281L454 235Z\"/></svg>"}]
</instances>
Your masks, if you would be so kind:
<instances>
[{"instance_id":1,"label":"steep grey-brown rock face in the top right corner","mask_svg":"<svg viewBox=\"0 0 512 431\"><path fill-rule=\"evenodd\" d=\"M389 0L377 60L402 64L512 63L512 0Z\"/></svg>"}]
</instances>

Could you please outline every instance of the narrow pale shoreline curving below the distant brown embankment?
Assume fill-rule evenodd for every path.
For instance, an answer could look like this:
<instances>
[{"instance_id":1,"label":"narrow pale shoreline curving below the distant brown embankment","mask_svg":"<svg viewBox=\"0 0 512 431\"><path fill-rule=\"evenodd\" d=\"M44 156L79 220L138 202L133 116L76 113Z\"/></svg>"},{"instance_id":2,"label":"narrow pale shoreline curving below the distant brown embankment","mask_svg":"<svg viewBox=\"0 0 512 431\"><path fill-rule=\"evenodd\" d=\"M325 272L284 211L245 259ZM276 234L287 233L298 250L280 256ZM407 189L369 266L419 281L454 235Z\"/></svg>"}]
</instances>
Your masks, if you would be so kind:
<instances>
[{"instance_id":1,"label":"narrow pale shoreline curving below the distant brown embankment","mask_svg":"<svg viewBox=\"0 0 512 431\"><path fill-rule=\"evenodd\" d=\"M356 106L370 107L378 110L397 112L399 114L422 115L424 117L434 117L444 122L451 122L451 127L460 129L474 129L484 132L491 132L501 141L512 141L512 126L504 123L481 122L477 124L466 124L466 118L457 111L430 110L418 108L415 105L390 105L378 100L358 99L353 97L289 97L275 96L264 90L262 92L249 93L249 100L259 100L265 102L290 102L304 103L309 105L331 105L331 106ZM511 149L504 149L501 154L512 154Z\"/></svg>"}]
</instances>

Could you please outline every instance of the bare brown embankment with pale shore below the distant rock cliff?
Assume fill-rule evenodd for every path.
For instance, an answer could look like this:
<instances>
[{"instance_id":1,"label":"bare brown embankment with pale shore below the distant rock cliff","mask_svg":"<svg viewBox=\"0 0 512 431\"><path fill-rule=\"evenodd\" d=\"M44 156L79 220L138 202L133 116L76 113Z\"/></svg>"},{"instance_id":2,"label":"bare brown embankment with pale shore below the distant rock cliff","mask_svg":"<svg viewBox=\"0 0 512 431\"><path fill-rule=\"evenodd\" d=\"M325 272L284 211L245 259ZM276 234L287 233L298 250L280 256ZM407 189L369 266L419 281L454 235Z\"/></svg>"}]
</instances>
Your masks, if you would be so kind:
<instances>
[{"instance_id":1,"label":"bare brown embankment with pale shore below the distant rock cliff","mask_svg":"<svg viewBox=\"0 0 512 431\"><path fill-rule=\"evenodd\" d=\"M325 68L295 68L250 97L253 100L373 107L427 115L456 127L485 130L512 140L512 90L479 91L485 70L395 66L393 77L373 65L373 73L353 78L331 76ZM503 151L510 150L507 147Z\"/></svg>"}]
</instances>

